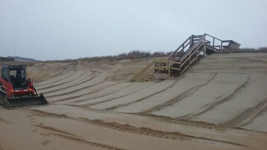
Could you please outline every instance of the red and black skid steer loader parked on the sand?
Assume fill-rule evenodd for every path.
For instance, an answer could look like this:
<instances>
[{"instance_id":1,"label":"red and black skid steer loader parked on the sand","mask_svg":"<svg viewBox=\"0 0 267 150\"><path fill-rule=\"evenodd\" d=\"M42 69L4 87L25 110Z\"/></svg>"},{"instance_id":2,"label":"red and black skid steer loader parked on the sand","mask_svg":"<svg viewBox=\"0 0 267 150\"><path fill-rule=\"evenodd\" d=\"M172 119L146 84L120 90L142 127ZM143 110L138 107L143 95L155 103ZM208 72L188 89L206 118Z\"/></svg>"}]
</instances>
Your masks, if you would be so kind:
<instances>
[{"instance_id":1,"label":"red and black skid steer loader parked on the sand","mask_svg":"<svg viewBox=\"0 0 267 150\"><path fill-rule=\"evenodd\" d=\"M48 102L39 96L32 80L26 79L26 66L2 66L0 77L0 104L6 109L37 107Z\"/></svg>"}]
</instances>

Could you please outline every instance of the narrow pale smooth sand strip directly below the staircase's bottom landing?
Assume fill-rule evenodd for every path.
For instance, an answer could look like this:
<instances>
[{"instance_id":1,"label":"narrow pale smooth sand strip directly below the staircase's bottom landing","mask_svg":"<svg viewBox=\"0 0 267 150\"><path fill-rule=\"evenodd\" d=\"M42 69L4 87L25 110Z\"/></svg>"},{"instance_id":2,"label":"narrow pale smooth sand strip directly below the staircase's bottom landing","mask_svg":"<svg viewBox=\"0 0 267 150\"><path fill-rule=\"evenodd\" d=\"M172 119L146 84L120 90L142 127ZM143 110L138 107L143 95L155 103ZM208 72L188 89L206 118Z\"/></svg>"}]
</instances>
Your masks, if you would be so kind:
<instances>
[{"instance_id":1,"label":"narrow pale smooth sand strip directly below the staircase's bottom landing","mask_svg":"<svg viewBox=\"0 0 267 150\"><path fill-rule=\"evenodd\" d=\"M162 91L162 90L168 88L169 86L171 86L174 82L175 82L175 80L165 80L165 81L162 81L160 83L154 83L152 86L150 86L146 90L141 90L141 91L135 92L133 94L130 94L130 95L118 98L118 99L114 99L112 101L108 101L105 103L92 105L92 106L90 106L90 108L105 109L105 108L114 107L117 105L123 105L123 104L131 103L135 100L142 99L142 98L149 96L151 94L154 94L158 91Z\"/></svg>"}]
</instances>

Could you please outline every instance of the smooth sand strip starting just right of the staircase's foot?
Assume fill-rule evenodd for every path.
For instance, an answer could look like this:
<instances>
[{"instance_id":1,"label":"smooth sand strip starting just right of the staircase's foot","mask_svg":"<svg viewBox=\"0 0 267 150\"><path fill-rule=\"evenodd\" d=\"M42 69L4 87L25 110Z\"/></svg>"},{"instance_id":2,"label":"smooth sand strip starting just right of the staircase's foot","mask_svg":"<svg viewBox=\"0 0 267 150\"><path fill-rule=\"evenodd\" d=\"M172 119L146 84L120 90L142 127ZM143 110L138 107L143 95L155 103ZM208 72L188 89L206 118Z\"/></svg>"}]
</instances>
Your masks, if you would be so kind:
<instances>
[{"instance_id":1,"label":"smooth sand strip starting just right of the staircase's foot","mask_svg":"<svg viewBox=\"0 0 267 150\"><path fill-rule=\"evenodd\" d=\"M152 112L155 110L161 110L163 107L170 105L170 103L176 103L178 97L180 97L181 95L192 94L199 87L203 86L203 84L208 83L210 80L212 80L215 75L216 74L188 73L184 78L179 79L178 82L173 85L173 87L166 89L166 91L151 95L150 97L147 97L140 102L136 102L125 107L119 107L117 109L114 109L114 111L141 112L147 110ZM194 82L187 84L189 81ZM180 89L179 91L177 91L178 88Z\"/></svg>"}]
</instances>

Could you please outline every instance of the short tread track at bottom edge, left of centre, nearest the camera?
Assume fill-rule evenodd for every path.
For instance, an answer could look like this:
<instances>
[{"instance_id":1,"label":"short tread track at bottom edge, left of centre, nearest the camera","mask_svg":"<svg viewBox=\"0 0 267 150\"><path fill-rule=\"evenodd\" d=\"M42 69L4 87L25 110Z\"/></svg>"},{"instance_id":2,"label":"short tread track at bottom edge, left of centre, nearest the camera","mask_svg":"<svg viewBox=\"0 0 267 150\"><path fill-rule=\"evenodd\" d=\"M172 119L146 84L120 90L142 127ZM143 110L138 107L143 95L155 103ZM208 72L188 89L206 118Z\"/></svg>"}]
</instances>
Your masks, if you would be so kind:
<instances>
[{"instance_id":1,"label":"short tread track at bottom edge, left of centre, nearest the camera","mask_svg":"<svg viewBox=\"0 0 267 150\"><path fill-rule=\"evenodd\" d=\"M54 132L49 132L49 133L54 135L54 136L58 136L60 138L66 139L66 140L72 140L72 141L75 141L75 142L88 144L88 145L91 145L91 146L107 148L107 149L114 149L114 150L122 150L121 148L116 148L116 147L105 145L105 144L101 144L101 143L90 142L90 141L83 140L83 139L80 139L80 138L77 138L77 137L74 137L74 136L67 136L67 135L64 135L64 134L54 133Z\"/></svg>"}]
</instances>

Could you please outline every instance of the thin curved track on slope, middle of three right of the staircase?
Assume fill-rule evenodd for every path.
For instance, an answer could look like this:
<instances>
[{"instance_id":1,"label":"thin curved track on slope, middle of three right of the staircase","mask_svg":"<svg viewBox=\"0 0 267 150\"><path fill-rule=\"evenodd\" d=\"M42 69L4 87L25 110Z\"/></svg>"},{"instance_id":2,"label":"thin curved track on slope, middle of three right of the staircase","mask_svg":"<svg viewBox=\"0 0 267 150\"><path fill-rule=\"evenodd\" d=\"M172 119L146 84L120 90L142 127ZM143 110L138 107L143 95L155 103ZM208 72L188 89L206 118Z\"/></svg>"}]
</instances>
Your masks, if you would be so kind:
<instances>
[{"instance_id":1,"label":"thin curved track on slope, middle of three right of the staircase","mask_svg":"<svg viewBox=\"0 0 267 150\"><path fill-rule=\"evenodd\" d=\"M227 101L229 101L229 100L231 100L239 91L241 91L242 90L242 88L244 88L244 87L246 87L246 85L248 84L248 82L249 82L249 78L250 77L248 77L248 79L246 80L246 82L244 82L243 84L241 84L239 87L237 87L236 89L235 89L235 91L233 91L229 96L227 96L227 97L225 97L224 99L222 99L222 100L219 100L219 101L216 101L215 103L212 103L209 107L207 107L205 110L203 110L203 111L201 111L201 112L199 112L199 113L197 113L197 114L194 114L194 115L192 115L191 117L193 117L193 116L200 116L200 115L202 115L202 114L204 114L204 113L206 113L206 112L208 112L208 111L211 111L211 110L213 110L215 107L217 107L218 105L220 105L220 104L223 104L224 102L227 102Z\"/></svg>"}]
</instances>

